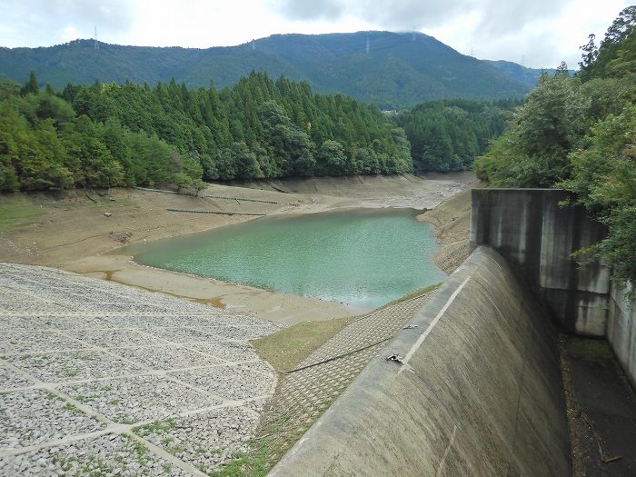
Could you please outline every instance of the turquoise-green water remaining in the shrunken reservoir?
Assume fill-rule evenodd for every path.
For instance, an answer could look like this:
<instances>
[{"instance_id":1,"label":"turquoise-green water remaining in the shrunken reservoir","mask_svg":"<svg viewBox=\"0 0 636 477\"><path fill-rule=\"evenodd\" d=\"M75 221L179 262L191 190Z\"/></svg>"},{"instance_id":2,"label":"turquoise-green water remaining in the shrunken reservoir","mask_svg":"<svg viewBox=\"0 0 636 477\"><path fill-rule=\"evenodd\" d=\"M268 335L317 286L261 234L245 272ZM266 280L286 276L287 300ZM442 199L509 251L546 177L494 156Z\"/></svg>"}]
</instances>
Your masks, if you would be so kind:
<instances>
[{"instance_id":1,"label":"turquoise-green water remaining in the shrunken reservoir","mask_svg":"<svg viewBox=\"0 0 636 477\"><path fill-rule=\"evenodd\" d=\"M376 308L444 274L429 224L405 210L266 217L150 243L135 261Z\"/></svg>"}]
</instances>

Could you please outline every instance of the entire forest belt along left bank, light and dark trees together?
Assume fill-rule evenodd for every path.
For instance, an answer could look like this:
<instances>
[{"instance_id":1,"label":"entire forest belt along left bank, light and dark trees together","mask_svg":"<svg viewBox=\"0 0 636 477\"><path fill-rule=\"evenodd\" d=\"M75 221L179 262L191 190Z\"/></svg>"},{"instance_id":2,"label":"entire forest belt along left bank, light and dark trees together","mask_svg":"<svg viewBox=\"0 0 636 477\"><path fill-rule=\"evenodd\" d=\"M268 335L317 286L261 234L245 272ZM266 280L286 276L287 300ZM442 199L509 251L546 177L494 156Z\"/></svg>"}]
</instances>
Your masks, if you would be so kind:
<instances>
[{"instance_id":1,"label":"entire forest belt along left bank, light and dark trees together","mask_svg":"<svg viewBox=\"0 0 636 477\"><path fill-rule=\"evenodd\" d=\"M377 107L253 73L233 88L0 83L0 190L412 171Z\"/></svg>"}]
</instances>

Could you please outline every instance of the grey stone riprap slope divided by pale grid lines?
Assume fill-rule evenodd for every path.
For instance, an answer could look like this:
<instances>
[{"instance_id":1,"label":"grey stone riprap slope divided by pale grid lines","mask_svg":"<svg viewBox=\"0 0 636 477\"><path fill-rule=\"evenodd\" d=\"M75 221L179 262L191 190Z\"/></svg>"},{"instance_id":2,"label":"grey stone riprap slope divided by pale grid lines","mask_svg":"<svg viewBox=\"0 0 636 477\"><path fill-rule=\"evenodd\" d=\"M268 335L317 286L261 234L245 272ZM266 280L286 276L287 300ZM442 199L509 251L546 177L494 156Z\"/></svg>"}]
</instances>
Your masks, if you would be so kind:
<instances>
[{"instance_id":1,"label":"grey stone riprap slope divided by pale grid lines","mask_svg":"<svg viewBox=\"0 0 636 477\"><path fill-rule=\"evenodd\" d=\"M278 325L0 263L0 475L205 475L245 451Z\"/></svg>"}]
</instances>

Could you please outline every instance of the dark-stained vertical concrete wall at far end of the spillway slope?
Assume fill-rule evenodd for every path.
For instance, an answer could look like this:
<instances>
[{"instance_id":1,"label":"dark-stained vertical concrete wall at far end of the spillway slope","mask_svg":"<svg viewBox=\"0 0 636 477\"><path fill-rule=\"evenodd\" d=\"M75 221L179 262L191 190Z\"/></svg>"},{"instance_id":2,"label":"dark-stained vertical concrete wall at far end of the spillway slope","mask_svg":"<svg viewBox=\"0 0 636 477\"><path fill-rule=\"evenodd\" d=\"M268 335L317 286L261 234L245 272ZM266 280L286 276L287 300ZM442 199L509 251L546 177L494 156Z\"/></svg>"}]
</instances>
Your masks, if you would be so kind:
<instances>
[{"instance_id":1,"label":"dark-stained vertical concrete wall at far end of the spillway slope","mask_svg":"<svg viewBox=\"0 0 636 477\"><path fill-rule=\"evenodd\" d=\"M564 330L604 336L610 309L610 270L580 266L571 253L603 239L605 227L555 189L473 189L471 244L488 244L520 270Z\"/></svg>"}]
</instances>

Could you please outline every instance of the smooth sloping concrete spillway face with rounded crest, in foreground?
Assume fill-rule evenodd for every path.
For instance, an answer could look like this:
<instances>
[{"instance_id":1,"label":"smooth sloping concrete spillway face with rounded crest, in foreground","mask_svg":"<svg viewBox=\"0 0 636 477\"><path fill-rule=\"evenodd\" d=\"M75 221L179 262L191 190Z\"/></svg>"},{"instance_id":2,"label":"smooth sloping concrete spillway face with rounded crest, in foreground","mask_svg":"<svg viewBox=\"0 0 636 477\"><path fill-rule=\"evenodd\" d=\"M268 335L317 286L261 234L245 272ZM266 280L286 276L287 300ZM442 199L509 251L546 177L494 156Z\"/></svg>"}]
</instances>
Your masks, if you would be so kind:
<instances>
[{"instance_id":1,"label":"smooth sloping concrete spillway face with rounded crest, in foreground","mask_svg":"<svg viewBox=\"0 0 636 477\"><path fill-rule=\"evenodd\" d=\"M273 469L312 475L569 475L552 323L480 247Z\"/></svg>"}]
</instances>

